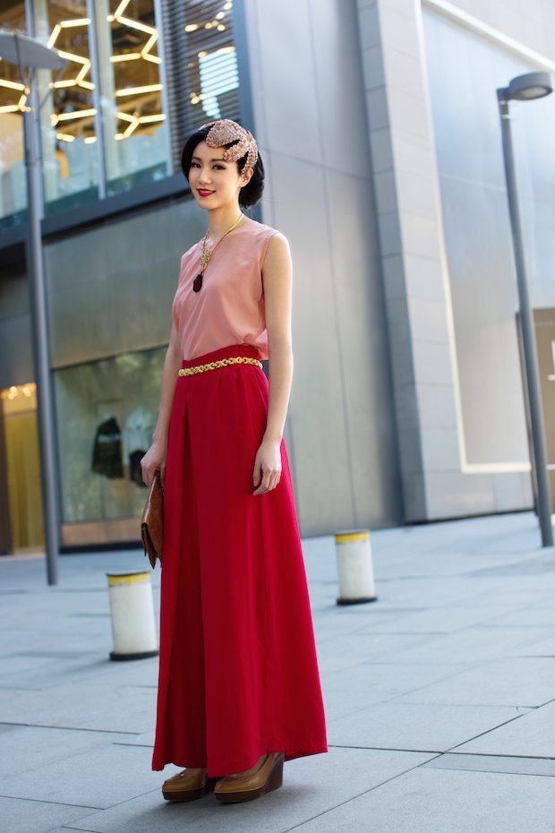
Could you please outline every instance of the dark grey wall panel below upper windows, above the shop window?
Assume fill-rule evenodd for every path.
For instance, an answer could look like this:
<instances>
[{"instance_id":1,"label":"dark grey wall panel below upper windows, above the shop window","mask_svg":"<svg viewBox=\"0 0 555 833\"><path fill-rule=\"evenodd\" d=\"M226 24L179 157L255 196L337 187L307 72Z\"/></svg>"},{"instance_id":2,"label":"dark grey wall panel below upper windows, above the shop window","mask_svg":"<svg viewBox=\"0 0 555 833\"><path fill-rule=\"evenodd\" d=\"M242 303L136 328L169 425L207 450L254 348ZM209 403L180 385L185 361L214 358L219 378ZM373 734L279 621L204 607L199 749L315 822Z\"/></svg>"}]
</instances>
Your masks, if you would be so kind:
<instances>
[{"instance_id":1,"label":"dark grey wall panel below upper windows, above the shop window","mask_svg":"<svg viewBox=\"0 0 555 833\"><path fill-rule=\"evenodd\" d=\"M53 366L165 344L181 254L205 221L188 200L48 244Z\"/></svg>"}]
</instances>

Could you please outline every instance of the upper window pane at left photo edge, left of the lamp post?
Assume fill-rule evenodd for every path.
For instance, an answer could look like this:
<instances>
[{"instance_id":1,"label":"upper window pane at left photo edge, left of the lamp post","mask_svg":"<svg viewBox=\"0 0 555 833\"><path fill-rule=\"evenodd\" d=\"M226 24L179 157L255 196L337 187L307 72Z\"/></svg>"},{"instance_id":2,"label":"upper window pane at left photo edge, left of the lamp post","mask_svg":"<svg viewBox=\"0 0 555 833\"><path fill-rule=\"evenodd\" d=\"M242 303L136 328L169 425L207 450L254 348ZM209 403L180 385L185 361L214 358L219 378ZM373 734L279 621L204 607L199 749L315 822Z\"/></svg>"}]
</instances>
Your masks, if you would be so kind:
<instances>
[{"instance_id":1,"label":"upper window pane at left photo edge, left of the lamp post","mask_svg":"<svg viewBox=\"0 0 555 833\"><path fill-rule=\"evenodd\" d=\"M25 32L25 4L0 5L0 29ZM14 64L0 60L0 230L24 222L27 185L21 107L27 95Z\"/></svg>"}]
</instances>

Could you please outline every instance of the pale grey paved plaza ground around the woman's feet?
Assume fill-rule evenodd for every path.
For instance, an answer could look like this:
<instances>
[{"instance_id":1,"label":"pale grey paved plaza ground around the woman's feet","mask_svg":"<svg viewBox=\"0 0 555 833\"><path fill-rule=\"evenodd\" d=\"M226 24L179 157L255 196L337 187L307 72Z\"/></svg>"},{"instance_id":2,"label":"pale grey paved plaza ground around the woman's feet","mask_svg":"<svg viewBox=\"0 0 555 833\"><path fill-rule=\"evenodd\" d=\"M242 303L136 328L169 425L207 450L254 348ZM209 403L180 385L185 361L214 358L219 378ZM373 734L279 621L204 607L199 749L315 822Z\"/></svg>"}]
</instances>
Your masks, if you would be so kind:
<instances>
[{"instance_id":1,"label":"pale grey paved plaza ground around the woman's feet","mask_svg":"<svg viewBox=\"0 0 555 833\"><path fill-rule=\"evenodd\" d=\"M139 551L0 558L2 833L555 833L555 551L531 512L371 533L378 599L336 604L303 540L329 752L283 786L169 804L158 658L111 662L106 572ZM159 571L153 573L158 613Z\"/></svg>"}]
</instances>

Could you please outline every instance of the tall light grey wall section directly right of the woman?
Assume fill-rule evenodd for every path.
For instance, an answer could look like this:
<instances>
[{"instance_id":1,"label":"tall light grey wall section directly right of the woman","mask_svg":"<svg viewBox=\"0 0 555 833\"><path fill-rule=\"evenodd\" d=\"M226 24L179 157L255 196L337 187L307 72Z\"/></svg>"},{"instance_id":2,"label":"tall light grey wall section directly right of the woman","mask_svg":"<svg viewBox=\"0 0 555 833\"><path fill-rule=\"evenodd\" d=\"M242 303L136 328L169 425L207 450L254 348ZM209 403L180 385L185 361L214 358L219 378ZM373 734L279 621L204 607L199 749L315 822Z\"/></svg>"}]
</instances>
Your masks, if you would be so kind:
<instances>
[{"instance_id":1,"label":"tall light grey wall section directly right of the woman","mask_svg":"<svg viewBox=\"0 0 555 833\"><path fill-rule=\"evenodd\" d=\"M302 531L396 522L402 507L356 6L246 0L246 10L254 127L269 170L263 216L288 237L295 265L288 423Z\"/></svg>"}]
</instances>

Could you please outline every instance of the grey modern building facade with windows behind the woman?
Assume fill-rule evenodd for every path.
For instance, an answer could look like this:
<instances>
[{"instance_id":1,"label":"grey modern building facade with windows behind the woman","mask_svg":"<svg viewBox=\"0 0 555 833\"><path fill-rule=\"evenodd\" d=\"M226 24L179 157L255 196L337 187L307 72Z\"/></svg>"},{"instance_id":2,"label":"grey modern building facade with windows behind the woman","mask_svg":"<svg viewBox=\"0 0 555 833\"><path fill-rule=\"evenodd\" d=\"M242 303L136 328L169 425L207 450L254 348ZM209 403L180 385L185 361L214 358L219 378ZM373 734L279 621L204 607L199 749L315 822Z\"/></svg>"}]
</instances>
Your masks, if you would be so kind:
<instances>
[{"instance_id":1,"label":"grey modern building facade with windows behind the woman","mask_svg":"<svg viewBox=\"0 0 555 833\"><path fill-rule=\"evenodd\" d=\"M184 136L259 141L294 256L286 442L303 535L529 508L496 88L555 67L544 0L37 0L64 546L137 539L179 258ZM24 80L0 62L0 551L40 543ZM512 105L533 305L555 307L555 97ZM549 339L548 342L549 344ZM552 369L552 372L555 369ZM553 461L555 462L555 460Z\"/></svg>"}]
</instances>

